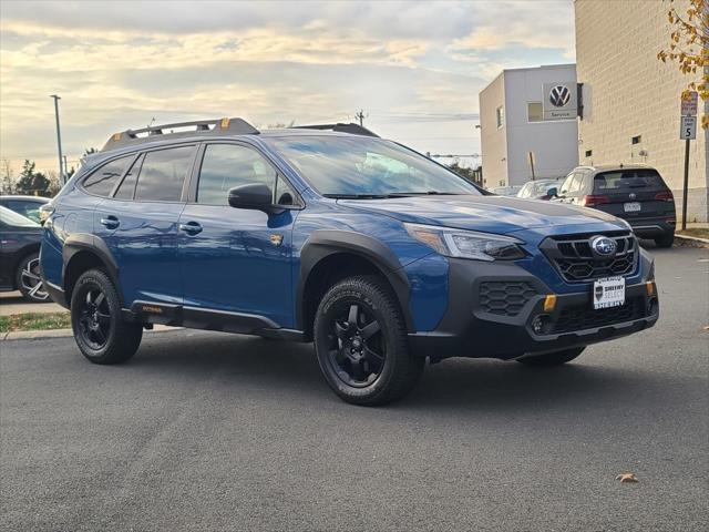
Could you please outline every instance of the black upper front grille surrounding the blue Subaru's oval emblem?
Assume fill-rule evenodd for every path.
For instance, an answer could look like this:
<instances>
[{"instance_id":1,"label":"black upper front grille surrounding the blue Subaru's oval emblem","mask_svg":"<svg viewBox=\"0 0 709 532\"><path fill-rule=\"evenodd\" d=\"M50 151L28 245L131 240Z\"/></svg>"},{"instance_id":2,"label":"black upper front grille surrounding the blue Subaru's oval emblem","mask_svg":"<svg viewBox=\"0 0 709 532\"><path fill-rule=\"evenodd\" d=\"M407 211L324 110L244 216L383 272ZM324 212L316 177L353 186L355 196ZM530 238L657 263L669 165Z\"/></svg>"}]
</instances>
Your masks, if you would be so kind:
<instances>
[{"instance_id":1,"label":"black upper front grille surrounding the blue Subaru's oval emblem","mask_svg":"<svg viewBox=\"0 0 709 532\"><path fill-rule=\"evenodd\" d=\"M595 236L607 236L616 242L615 257L608 259L594 255L590 239ZM638 263L638 244L630 232L554 236L545 238L540 248L569 283L630 275Z\"/></svg>"}]
</instances>

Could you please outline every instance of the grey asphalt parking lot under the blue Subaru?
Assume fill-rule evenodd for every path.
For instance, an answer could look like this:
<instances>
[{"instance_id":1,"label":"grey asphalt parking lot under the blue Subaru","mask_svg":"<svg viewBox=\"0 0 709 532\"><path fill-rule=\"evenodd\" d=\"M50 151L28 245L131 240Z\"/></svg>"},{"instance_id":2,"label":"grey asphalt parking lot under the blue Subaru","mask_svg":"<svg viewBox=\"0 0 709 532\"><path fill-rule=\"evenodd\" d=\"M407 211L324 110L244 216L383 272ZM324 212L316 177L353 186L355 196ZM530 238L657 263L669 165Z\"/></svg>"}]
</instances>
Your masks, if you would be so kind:
<instances>
[{"instance_id":1,"label":"grey asphalt parking lot under the blue Subaru","mask_svg":"<svg viewBox=\"0 0 709 532\"><path fill-rule=\"evenodd\" d=\"M100 367L6 341L0 528L707 530L709 250L651 253L654 329L553 370L448 360L379 409L310 346L181 330Z\"/></svg>"}]
</instances>

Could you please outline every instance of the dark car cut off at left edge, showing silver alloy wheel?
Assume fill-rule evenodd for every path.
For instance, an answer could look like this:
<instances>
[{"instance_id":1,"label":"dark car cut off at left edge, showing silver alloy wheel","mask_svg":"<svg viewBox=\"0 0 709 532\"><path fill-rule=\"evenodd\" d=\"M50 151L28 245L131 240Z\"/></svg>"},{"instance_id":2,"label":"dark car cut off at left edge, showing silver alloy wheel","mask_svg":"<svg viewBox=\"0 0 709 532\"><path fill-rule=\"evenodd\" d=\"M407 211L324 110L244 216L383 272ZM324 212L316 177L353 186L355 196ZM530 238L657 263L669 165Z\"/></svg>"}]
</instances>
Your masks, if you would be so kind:
<instances>
[{"instance_id":1,"label":"dark car cut off at left edge, showing silver alloy wheel","mask_svg":"<svg viewBox=\"0 0 709 532\"><path fill-rule=\"evenodd\" d=\"M20 290L29 301L49 300L40 279L42 227L0 206L0 290Z\"/></svg>"}]
</instances>

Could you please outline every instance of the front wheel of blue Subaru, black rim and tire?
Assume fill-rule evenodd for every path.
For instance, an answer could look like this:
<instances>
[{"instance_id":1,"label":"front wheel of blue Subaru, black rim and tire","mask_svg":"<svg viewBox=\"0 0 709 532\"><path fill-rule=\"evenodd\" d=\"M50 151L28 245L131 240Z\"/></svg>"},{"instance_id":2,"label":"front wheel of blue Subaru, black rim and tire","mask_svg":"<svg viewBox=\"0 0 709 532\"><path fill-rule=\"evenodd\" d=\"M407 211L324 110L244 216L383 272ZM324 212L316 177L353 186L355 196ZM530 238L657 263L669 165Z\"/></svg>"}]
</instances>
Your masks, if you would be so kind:
<instances>
[{"instance_id":1,"label":"front wheel of blue Subaru, black rim and tire","mask_svg":"<svg viewBox=\"0 0 709 532\"><path fill-rule=\"evenodd\" d=\"M425 359L411 355L397 298L377 276L348 277L330 287L314 336L322 375L347 402L372 407L401 399L423 372Z\"/></svg>"}]
</instances>

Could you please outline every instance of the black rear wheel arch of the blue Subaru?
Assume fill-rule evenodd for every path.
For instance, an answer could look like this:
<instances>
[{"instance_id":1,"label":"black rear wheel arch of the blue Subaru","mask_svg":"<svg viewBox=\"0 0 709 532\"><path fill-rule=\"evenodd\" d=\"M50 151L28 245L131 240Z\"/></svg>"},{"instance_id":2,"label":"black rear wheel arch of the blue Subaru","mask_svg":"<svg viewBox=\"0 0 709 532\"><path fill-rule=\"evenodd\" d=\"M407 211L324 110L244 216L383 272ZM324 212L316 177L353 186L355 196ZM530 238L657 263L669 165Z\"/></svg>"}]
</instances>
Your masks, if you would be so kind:
<instances>
[{"instance_id":1,"label":"black rear wheel arch of the blue Subaru","mask_svg":"<svg viewBox=\"0 0 709 532\"><path fill-rule=\"evenodd\" d=\"M90 234L71 235L62 249L62 279L66 303L71 305L71 294L76 280L91 268L103 268L109 274L123 305L123 293L119 284L119 266L105 242Z\"/></svg>"}]
</instances>

